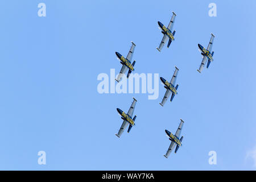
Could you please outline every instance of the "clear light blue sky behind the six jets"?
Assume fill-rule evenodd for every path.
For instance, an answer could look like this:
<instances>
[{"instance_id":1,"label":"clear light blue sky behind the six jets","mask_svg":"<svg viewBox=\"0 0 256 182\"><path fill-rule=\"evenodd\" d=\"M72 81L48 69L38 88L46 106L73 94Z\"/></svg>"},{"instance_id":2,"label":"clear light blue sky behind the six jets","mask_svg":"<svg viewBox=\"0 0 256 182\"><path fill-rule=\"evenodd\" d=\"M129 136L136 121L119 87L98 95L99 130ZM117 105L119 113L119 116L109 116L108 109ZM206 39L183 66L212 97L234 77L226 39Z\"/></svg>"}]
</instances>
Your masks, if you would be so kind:
<instances>
[{"instance_id":1,"label":"clear light blue sky behind the six jets","mask_svg":"<svg viewBox=\"0 0 256 182\"><path fill-rule=\"evenodd\" d=\"M255 170L255 9L255 1L1 1L0 169ZM157 21L167 26L171 11L175 42L158 52ZM207 47L211 32L214 61L200 74L197 43ZM131 40L135 72L170 80L180 69L172 103L159 105L160 82L157 100L97 92L98 74L119 71L115 51L126 56ZM132 97L136 126L117 138L116 107L127 111ZM166 159L164 130L175 133L179 118L183 147ZM208 164L212 150L217 165Z\"/></svg>"}]
</instances>

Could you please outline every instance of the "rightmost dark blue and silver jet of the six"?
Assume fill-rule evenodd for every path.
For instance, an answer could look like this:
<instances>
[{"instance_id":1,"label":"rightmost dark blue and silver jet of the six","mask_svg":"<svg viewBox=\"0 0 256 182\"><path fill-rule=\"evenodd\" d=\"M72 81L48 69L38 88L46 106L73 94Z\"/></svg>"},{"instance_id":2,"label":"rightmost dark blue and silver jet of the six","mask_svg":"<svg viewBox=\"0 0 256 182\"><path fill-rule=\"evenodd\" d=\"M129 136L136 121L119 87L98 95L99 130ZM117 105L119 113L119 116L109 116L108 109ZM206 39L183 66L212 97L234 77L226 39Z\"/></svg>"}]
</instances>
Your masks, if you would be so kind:
<instances>
[{"instance_id":1,"label":"rightmost dark blue and silver jet of the six","mask_svg":"<svg viewBox=\"0 0 256 182\"><path fill-rule=\"evenodd\" d=\"M203 70L204 65L205 65L207 59L208 59L207 68L209 68L210 62L213 61L213 53L214 53L214 51L212 51L212 46L213 46L213 39L214 39L215 36L213 34L211 34L211 35L212 35L212 37L210 38L210 42L208 44L207 49L205 49L203 46L198 44L199 51L201 52L201 55L203 56L203 61L202 61L201 65L200 65L200 68L197 69L197 71L199 73L201 73L201 71ZM212 53L211 53L211 51L212 51Z\"/></svg>"}]
</instances>

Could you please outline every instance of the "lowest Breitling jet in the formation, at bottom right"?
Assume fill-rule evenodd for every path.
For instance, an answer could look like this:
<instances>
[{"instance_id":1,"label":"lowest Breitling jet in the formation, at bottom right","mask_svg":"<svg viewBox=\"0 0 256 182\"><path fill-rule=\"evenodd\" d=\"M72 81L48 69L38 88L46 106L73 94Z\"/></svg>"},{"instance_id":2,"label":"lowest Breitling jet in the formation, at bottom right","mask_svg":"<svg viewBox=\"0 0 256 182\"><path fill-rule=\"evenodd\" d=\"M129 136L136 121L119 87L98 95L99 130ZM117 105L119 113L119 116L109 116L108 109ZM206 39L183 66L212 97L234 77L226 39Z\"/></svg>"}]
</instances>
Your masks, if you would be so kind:
<instances>
[{"instance_id":1,"label":"lowest Breitling jet in the formation, at bottom right","mask_svg":"<svg viewBox=\"0 0 256 182\"><path fill-rule=\"evenodd\" d=\"M175 135L172 134L170 131L166 130L167 137L171 140L170 147L168 148L166 155L164 155L166 158L168 158L168 156L171 154L172 150L174 150L175 146L176 146L175 154L176 154L177 150L179 149L179 147L182 146L181 142L182 142L183 136L180 138L180 133L182 130L183 123L184 123L184 121L182 119L180 119L180 125L179 125Z\"/></svg>"}]
</instances>

